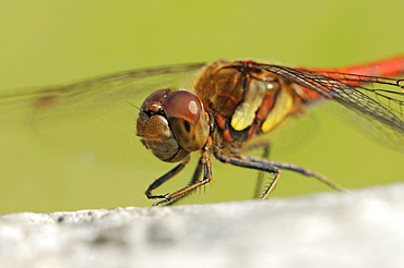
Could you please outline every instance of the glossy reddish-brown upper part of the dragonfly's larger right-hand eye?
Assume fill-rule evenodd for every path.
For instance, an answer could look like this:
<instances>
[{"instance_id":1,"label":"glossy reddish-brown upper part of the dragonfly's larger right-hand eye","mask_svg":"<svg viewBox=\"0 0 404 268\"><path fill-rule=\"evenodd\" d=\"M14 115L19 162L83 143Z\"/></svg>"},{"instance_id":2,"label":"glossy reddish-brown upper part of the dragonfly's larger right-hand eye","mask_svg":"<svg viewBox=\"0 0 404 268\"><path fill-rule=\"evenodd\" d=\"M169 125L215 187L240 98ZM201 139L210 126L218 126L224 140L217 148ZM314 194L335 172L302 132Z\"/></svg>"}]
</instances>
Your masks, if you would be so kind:
<instances>
[{"instance_id":1,"label":"glossy reddish-brown upper part of the dragonfly's larger right-hand eye","mask_svg":"<svg viewBox=\"0 0 404 268\"><path fill-rule=\"evenodd\" d=\"M201 114L201 101L189 92L174 92L162 100L167 118L177 118L195 123Z\"/></svg>"}]
</instances>

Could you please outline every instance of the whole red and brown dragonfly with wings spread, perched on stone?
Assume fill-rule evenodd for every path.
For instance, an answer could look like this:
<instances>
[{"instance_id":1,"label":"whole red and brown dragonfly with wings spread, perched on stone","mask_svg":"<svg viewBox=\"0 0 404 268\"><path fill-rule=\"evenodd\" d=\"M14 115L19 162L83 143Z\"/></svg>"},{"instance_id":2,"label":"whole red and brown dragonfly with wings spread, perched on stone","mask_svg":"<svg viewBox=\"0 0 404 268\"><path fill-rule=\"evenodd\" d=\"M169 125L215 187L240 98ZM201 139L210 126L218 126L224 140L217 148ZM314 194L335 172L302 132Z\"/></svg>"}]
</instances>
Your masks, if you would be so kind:
<instances>
[{"instance_id":1,"label":"whole red and brown dragonfly with wings spread, perched on stone","mask_svg":"<svg viewBox=\"0 0 404 268\"><path fill-rule=\"evenodd\" d=\"M68 85L2 92L0 127L28 125L40 134L44 126L59 125L55 130L63 138L64 127L81 130L74 122L78 118L88 119L81 120L81 124L88 124L90 129L103 130L118 117L128 118L129 113L133 118L133 110L115 108L142 103L135 108L135 127L129 123L130 127L135 129L141 144L159 160L177 162L146 188L146 197L157 200L154 206L175 204L210 183L212 157L259 171L254 195L261 199L272 193L281 170L314 178L344 192L337 183L306 167L270 160L266 139L286 119L305 114L316 103L332 101L359 114L376 130L370 135L402 151L404 83L396 77L403 74L404 56L340 69L219 60L135 70ZM194 82L190 83L192 78ZM181 80L185 82L178 85ZM108 118L107 110L124 114ZM95 135L108 141L104 147L114 144L105 136L107 132ZM76 139L71 139L68 146L74 146ZM82 147L90 148L90 143L88 139ZM262 149L262 157L248 155L257 148ZM192 153L199 153L199 161L190 183L169 194L154 194L187 166ZM270 183L262 186L265 175Z\"/></svg>"}]
</instances>

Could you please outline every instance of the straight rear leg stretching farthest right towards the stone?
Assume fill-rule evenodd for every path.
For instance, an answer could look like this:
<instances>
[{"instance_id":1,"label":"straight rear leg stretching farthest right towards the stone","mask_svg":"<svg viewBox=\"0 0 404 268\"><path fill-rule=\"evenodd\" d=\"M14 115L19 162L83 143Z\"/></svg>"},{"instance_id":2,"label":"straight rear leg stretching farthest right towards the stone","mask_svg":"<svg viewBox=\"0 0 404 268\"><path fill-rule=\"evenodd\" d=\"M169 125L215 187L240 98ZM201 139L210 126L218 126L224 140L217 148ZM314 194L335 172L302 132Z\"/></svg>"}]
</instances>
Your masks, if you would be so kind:
<instances>
[{"instance_id":1,"label":"straight rear leg stretching farthest right towards the stone","mask_svg":"<svg viewBox=\"0 0 404 268\"><path fill-rule=\"evenodd\" d=\"M319 181L321 181L321 182L325 183L326 185L329 185L330 187L332 187L332 188L334 188L336 191L340 191L340 192L349 192L346 188L344 188L343 186L338 185L337 183L335 183L332 180L330 180L329 178L326 178L325 175L322 175L320 173L317 173L317 172L314 172L314 171L312 171L312 170L310 170L308 168L305 168L305 167L299 166L299 165L296 165L296 163L278 162L278 161L273 161L273 160L268 160L268 159L261 159L261 158L251 157L251 156L246 156L246 158L248 160L250 160L250 161L264 162L266 165L276 167L278 169L292 170L292 171L298 172L298 173L304 174L304 175L307 175L307 176L316 178Z\"/></svg>"}]
</instances>

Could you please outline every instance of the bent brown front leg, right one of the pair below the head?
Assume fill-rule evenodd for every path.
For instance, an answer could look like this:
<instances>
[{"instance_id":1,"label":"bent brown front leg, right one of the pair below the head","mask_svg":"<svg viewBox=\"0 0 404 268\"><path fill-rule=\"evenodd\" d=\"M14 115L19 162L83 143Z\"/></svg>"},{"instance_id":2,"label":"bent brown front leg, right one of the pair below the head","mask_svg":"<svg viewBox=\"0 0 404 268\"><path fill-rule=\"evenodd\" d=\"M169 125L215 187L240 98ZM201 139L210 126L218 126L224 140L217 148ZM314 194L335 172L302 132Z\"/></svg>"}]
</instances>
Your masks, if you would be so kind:
<instances>
[{"instance_id":1,"label":"bent brown front leg, right one of the pair below the head","mask_svg":"<svg viewBox=\"0 0 404 268\"><path fill-rule=\"evenodd\" d=\"M210 139L211 141L211 139ZM212 181L212 165L210 160L210 148L211 148L211 142L207 142L203 148L202 156L199 160L199 163L197 166L197 169L193 173L193 176L191 179L191 183L173 194L164 196L164 199L156 202L153 204L153 206L167 204L173 205L177 199L181 199L187 194L191 193L192 191L199 188L202 185L205 185L206 183L210 183ZM199 180L200 174L203 173L203 179Z\"/></svg>"}]
</instances>

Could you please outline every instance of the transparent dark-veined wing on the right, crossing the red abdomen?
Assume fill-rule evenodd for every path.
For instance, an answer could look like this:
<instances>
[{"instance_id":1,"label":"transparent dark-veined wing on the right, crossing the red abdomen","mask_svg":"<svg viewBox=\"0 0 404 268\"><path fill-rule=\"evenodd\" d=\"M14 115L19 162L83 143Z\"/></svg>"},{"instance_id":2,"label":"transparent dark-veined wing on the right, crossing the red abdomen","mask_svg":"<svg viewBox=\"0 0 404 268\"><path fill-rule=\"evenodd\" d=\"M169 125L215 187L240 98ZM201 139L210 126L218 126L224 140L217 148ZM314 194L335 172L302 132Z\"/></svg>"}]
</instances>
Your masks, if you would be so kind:
<instances>
[{"instance_id":1,"label":"transparent dark-veined wing on the right, crossing the red abdomen","mask_svg":"<svg viewBox=\"0 0 404 268\"><path fill-rule=\"evenodd\" d=\"M337 72L318 73L270 64L258 66L316 92L324 99L338 102L347 108L338 115L359 126L377 142L404 150L403 80Z\"/></svg>"}]
</instances>

